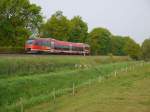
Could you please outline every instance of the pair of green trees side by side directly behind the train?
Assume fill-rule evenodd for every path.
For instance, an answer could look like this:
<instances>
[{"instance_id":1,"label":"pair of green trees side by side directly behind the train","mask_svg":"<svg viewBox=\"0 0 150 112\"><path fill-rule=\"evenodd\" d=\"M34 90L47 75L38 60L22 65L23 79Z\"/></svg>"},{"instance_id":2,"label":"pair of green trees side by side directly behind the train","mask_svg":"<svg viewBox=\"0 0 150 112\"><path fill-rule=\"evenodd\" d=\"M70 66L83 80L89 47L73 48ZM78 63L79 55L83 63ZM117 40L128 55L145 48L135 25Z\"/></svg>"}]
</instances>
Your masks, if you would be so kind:
<instances>
[{"instance_id":1,"label":"pair of green trees side by side directly behind the train","mask_svg":"<svg viewBox=\"0 0 150 112\"><path fill-rule=\"evenodd\" d=\"M62 11L57 11L41 27L42 37L52 37L71 42L85 42L88 26L80 16L69 20Z\"/></svg>"}]
</instances>

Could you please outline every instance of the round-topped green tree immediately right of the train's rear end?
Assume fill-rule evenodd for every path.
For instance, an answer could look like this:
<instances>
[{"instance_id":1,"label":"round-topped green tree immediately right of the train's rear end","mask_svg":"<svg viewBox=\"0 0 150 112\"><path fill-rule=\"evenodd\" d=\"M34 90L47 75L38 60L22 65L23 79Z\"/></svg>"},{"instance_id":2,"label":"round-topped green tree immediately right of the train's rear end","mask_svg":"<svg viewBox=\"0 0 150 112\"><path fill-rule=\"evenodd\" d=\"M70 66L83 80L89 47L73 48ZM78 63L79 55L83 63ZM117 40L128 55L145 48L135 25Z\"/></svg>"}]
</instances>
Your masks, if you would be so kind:
<instances>
[{"instance_id":1,"label":"round-topped green tree immediately right of the train's rear end","mask_svg":"<svg viewBox=\"0 0 150 112\"><path fill-rule=\"evenodd\" d=\"M95 28L89 33L88 42L93 54L107 55L110 53L111 33L105 28Z\"/></svg>"}]
</instances>

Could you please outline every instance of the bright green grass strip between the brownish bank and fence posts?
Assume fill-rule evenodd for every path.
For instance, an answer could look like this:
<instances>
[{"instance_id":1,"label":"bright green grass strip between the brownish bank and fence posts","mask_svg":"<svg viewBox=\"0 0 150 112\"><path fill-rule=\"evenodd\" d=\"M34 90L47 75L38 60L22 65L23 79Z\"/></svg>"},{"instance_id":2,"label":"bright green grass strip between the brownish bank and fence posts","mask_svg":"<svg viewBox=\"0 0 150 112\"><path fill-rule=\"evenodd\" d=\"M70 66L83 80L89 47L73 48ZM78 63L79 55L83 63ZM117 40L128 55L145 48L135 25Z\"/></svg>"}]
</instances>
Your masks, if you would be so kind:
<instances>
[{"instance_id":1,"label":"bright green grass strip between the brownish bank and fence posts","mask_svg":"<svg viewBox=\"0 0 150 112\"><path fill-rule=\"evenodd\" d=\"M105 64L89 69L0 79L0 106L2 109L6 105L15 105L22 97L26 100L27 107L30 107L35 103L48 100L53 88L56 90L69 88L73 83L80 85L89 79L107 76L131 64L135 63Z\"/></svg>"}]
</instances>

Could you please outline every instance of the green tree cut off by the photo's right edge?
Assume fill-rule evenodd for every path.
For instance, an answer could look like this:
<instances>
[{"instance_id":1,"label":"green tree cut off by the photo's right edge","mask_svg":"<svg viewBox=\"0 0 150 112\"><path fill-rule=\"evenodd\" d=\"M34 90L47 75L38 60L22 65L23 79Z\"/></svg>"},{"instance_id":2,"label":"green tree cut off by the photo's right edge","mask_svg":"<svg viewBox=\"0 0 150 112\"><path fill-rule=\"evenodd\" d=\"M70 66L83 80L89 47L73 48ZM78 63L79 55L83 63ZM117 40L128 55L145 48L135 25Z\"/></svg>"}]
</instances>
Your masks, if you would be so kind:
<instances>
[{"instance_id":1,"label":"green tree cut off by the photo's right edge","mask_svg":"<svg viewBox=\"0 0 150 112\"><path fill-rule=\"evenodd\" d=\"M145 60L150 60L150 38L142 43L142 57Z\"/></svg>"}]
</instances>

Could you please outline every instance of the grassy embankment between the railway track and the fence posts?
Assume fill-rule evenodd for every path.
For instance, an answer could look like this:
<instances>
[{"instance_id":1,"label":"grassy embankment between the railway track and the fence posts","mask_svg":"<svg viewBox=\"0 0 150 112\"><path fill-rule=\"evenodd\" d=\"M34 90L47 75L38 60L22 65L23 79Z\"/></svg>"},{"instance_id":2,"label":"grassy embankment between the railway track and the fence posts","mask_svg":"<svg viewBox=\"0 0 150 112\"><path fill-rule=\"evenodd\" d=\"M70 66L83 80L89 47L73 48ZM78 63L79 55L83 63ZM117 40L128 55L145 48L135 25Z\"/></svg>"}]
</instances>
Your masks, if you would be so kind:
<instances>
[{"instance_id":1,"label":"grassy embankment between the railway track and the fence posts","mask_svg":"<svg viewBox=\"0 0 150 112\"><path fill-rule=\"evenodd\" d=\"M13 56L0 58L0 111L20 111L50 100L53 88L65 89L108 75L133 63L126 57ZM105 64L104 64L105 63ZM86 65L77 68L75 65ZM87 68L88 67L88 68Z\"/></svg>"}]
</instances>

